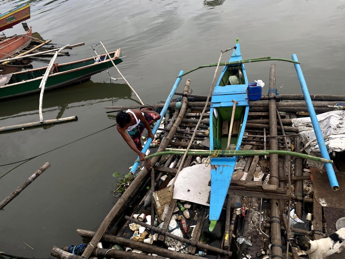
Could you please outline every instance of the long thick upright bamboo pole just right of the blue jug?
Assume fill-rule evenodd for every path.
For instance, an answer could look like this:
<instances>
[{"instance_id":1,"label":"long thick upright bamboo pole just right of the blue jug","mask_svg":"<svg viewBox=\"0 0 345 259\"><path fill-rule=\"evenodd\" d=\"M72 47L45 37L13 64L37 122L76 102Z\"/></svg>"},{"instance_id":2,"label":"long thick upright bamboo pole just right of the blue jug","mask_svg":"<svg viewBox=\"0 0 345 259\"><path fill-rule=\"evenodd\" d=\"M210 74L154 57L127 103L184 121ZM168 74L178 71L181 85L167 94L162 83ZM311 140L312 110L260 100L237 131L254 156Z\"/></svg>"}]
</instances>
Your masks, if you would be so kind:
<instances>
[{"instance_id":1,"label":"long thick upright bamboo pole just right of the blue jug","mask_svg":"<svg viewBox=\"0 0 345 259\"><path fill-rule=\"evenodd\" d=\"M272 64L269 70L269 89L276 89L276 64ZM274 91L269 92L269 96L275 96ZM278 135L277 132L277 114L276 114L276 101L274 99L269 100L269 135ZM278 150L278 139L275 137L269 138L269 146L272 150ZM270 168L270 184L279 186L278 179L278 155L271 154L269 156L269 168ZM272 258L283 256L282 251L282 237L280 233L280 219L279 219L279 200L270 200L270 215L271 215L271 243L272 245Z\"/></svg>"}]
</instances>

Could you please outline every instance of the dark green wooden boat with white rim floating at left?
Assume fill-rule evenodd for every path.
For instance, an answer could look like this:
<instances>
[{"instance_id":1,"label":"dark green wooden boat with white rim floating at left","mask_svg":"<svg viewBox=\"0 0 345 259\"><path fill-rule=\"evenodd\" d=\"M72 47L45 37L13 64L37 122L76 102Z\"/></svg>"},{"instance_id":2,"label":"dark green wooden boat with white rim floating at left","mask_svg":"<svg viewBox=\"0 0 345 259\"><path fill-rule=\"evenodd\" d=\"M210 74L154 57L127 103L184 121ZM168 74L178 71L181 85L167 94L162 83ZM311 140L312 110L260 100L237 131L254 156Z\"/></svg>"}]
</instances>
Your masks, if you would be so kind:
<instances>
[{"instance_id":1,"label":"dark green wooden boat with white rim floating at left","mask_svg":"<svg viewBox=\"0 0 345 259\"><path fill-rule=\"evenodd\" d=\"M109 54L115 65L122 62L120 49ZM91 57L64 64L54 63L45 89L79 84L110 67L112 64L106 54L101 55L100 58ZM0 99L39 92L38 87L46 70L47 67L41 67L1 76Z\"/></svg>"}]
</instances>

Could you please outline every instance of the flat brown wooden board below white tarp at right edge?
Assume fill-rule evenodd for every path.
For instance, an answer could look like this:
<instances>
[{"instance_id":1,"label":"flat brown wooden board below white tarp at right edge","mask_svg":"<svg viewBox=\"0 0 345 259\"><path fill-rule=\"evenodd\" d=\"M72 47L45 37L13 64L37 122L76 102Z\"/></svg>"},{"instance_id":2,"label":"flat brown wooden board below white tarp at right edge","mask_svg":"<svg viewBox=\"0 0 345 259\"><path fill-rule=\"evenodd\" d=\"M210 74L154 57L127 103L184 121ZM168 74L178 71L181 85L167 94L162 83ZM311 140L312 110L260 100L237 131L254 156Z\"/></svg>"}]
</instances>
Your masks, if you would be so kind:
<instances>
[{"instance_id":1,"label":"flat brown wooden board below white tarp at right edge","mask_svg":"<svg viewBox=\"0 0 345 259\"><path fill-rule=\"evenodd\" d=\"M313 186L315 200L322 205L322 207L333 207L345 209L345 173L338 172L336 177L340 189L333 191L329 185L329 180L326 172L313 172Z\"/></svg>"}]
</instances>

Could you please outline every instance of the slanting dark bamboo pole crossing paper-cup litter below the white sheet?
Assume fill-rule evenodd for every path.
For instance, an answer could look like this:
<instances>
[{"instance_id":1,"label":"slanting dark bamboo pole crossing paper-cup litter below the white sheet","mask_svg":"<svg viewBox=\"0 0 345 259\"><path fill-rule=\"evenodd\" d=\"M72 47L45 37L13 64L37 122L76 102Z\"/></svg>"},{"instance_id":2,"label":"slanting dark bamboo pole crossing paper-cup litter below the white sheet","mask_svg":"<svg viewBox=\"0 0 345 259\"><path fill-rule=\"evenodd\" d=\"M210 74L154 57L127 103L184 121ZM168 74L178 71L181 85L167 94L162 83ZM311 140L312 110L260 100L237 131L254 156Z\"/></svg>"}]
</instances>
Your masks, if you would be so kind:
<instances>
[{"instance_id":1,"label":"slanting dark bamboo pole crossing paper-cup litter below the white sheet","mask_svg":"<svg viewBox=\"0 0 345 259\"><path fill-rule=\"evenodd\" d=\"M222 255L226 255L226 256L231 256L232 255L232 252L229 252L229 251L225 251L225 250L222 250L222 249L219 249L219 248L216 248L216 247L213 247L213 246L210 246L208 244L203 244L201 242L197 242L197 241L191 241L189 239L186 239L186 238L181 238L181 237L178 237L178 236L175 236L174 234L171 234L165 230L162 230L162 229L159 229L159 228L156 228L154 226L151 226L149 224L146 224L142 221L139 221L139 220L136 220L136 219L133 219L133 218L130 218L128 216L125 216L125 219L128 219L136 224L139 224L140 226L143 226L147 229L153 229L155 232L158 232L166 237L169 237L169 238L172 238L174 240L177 240L177 241L180 241L180 242L183 242L183 243L186 243L186 244L191 244L192 246L196 246L196 247L199 247L199 248L202 248L202 249L206 249L206 250L210 250L210 251L213 251L213 252L216 252L216 253L220 253Z\"/></svg>"}]
</instances>

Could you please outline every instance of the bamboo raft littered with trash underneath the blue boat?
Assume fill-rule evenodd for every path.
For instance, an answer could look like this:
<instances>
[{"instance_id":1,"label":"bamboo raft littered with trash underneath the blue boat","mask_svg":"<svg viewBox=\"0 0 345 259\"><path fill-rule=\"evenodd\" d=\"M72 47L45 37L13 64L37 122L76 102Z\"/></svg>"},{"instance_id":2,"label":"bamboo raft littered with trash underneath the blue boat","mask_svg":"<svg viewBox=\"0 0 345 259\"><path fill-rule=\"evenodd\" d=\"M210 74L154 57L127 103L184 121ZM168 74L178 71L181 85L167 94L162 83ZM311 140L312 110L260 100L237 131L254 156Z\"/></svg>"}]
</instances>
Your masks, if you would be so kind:
<instances>
[{"instance_id":1,"label":"bamboo raft littered with trash underneath the blue boat","mask_svg":"<svg viewBox=\"0 0 345 259\"><path fill-rule=\"evenodd\" d=\"M174 199L169 192L169 182L179 172L179 167L200 166L218 155L210 153L209 144L205 142L210 134L211 104L206 103L207 96L193 94L189 79L183 92L177 93L179 77L168 99L152 105L162 108L165 115L165 121L155 125L158 133L150 145L151 153L156 151L151 155L152 171L143 167L135 172L137 166L134 166L131 169L134 175L129 173L118 181L118 188L113 192L120 195L119 199L98 230L77 229L85 243L53 247L51 255L61 259L149 259L152 256L176 259L200 256L217 259L305 258L303 251L289 248L286 243L292 232L306 234L311 239L323 238L334 232L333 224L337 219L334 217L337 213L345 214L345 210L332 208L335 216L329 217L326 213L328 207L320 204L313 195L311 180L317 178L320 171L307 166L306 160L311 157L303 150L298 129L292 125L293 118L308 116L308 109L304 102L283 101L304 100L303 95L277 95L275 70L276 65L272 64L269 94L260 101L249 103L240 148L243 152L236 154L238 168L231 180L218 228L212 235L208 232L209 206ZM178 97L172 99L172 95ZM338 95L311 95L311 98L318 114L333 111L329 105L345 101L345 96ZM177 102L181 107L176 105ZM198 124L205 105L206 113ZM140 107L107 106L106 109L118 111ZM233 134L238 132L236 127L239 125L234 126ZM197 134L190 143L194 130ZM182 164L189 144L191 149ZM341 153L333 152L333 161L329 161L334 162L337 176L344 174L343 157ZM187 187L190 184L193 183L186 181ZM327 188L329 191L325 191L325 195L341 197L340 191L334 192L328 185ZM290 227L289 208L293 208L296 217L308 224ZM155 216L158 222L155 222ZM181 223L181 218L186 219L186 226Z\"/></svg>"}]
</instances>

